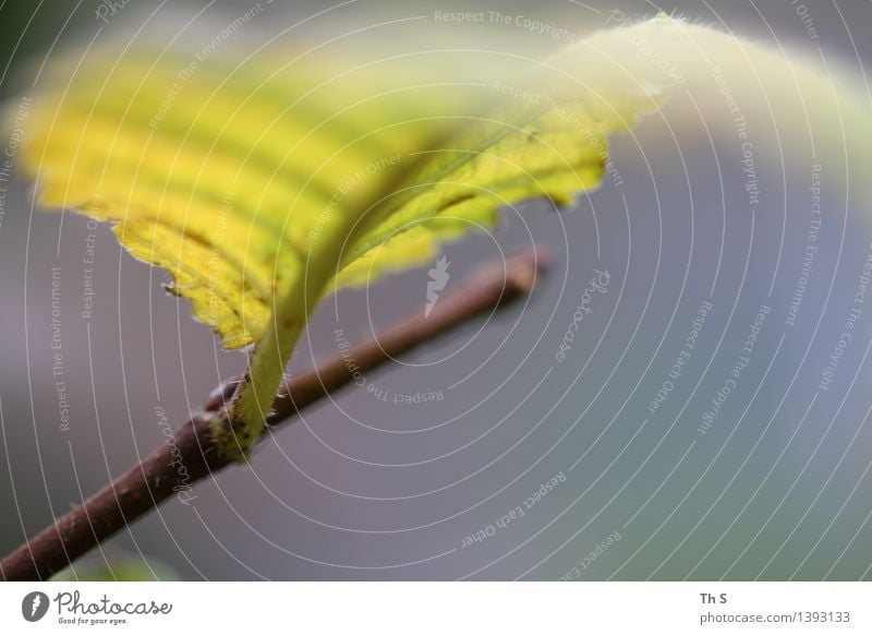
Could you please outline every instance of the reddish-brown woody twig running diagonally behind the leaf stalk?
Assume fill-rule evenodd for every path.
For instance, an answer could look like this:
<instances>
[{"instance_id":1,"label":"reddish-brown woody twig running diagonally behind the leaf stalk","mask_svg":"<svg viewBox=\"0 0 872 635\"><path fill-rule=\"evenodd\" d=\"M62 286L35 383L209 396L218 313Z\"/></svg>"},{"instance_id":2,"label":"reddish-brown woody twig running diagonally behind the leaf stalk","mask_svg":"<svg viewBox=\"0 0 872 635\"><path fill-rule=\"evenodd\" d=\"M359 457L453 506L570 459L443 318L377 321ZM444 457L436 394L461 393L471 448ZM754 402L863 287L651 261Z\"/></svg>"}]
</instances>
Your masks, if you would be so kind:
<instances>
[{"instance_id":1,"label":"reddish-brown woody twig running diagonally behind the leaf stalk","mask_svg":"<svg viewBox=\"0 0 872 635\"><path fill-rule=\"evenodd\" d=\"M352 371L367 372L464 321L528 293L542 269L542 255L529 250L473 275L443 297L425 319L416 314L377 338L352 347L315 370L286 383L276 398L270 429L347 385ZM354 368L350 368L353 360ZM175 430L170 443L145 457L82 505L44 529L0 562L0 579L47 579L160 503L231 464L213 443L211 421L225 416L234 381L214 393L204 411Z\"/></svg>"}]
</instances>

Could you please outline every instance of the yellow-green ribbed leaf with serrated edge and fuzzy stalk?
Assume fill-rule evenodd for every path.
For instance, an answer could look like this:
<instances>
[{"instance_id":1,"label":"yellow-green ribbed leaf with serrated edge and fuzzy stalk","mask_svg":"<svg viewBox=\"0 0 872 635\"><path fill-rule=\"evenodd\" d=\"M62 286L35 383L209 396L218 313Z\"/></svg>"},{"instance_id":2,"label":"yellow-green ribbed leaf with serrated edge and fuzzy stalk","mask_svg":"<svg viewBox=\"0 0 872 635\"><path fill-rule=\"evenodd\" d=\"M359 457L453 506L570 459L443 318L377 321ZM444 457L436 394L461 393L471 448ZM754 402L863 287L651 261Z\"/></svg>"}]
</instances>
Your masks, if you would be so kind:
<instances>
[{"instance_id":1,"label":"yellow-green ribbed leaf with serrated edge and fuzzy stalk","mask_svg":"<svg viewBox=\"0 0 872 635\"><path fill-rule=\"evenodd\" d=\"M627 32L687 28L658 22ZM223 53L99 50L58 69L24 165L44 205L114 223L167 268L226 347L256 343L233 404L240 454L326 292L423 264L506 204L595 187L605 136L676 83L621 31L545 60Z\"/></svg>"}]
</instances>

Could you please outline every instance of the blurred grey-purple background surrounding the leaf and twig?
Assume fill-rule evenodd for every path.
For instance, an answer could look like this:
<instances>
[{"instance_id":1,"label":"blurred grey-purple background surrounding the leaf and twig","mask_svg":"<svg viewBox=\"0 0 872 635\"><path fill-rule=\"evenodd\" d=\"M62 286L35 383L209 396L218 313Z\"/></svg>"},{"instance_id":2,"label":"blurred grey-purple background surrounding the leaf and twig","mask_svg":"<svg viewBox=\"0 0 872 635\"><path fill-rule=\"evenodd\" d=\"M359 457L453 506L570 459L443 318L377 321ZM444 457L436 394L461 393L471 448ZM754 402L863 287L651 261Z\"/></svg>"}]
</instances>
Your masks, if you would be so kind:
<instances>
[{"instance_id":1,"label":"blurred grey-purple background surrounding the leaf and twig","mask_svg":"<svg viewBox=\"0 0 872 635\"><path fill-rule=\"evenodd\" d=\"M215 2L204 15L232 21L252 4ZM4 98L14 103L14 75L26 82L28 64L56 39L93 37L98 5L0 4ZM277 5L244 36L325 8ZM152 20L160 24L161 12L193 15L204 7L131 0L113 21L135 23L157 11ZM603 27L615 10L639 17L679 11L824 56L858 77L872 60L868 0L361 0L312 28L480 8L564 25L578 37ZM555 46L517 31L533 46ZM872 578L870 315L858 323L833 385L812 399L872 239L870 211L852 207L845 188L824 192L820 251L797 323L786 328L809 225L809 158L759 166L768 212L752 227L738 212L747 200L738 160L724 160L738 156L735 145L713 152L691 127L663 143L663 127L651 118L634 137L615 137L620 182L606 180L577 208L555 214L545 203L526 204L506 211L493 236L447 248L450 290L500 250L547 247L555 265L528 304L367 375L372 392L334 395L279 431L250 466L201 483L191 505L169 501L87 562L133 559L156 576L184 579ZM186 303L164 292L166 275L123 254L106 227L34 211L21 181L9 184L1 221L7 552L161 443L156 409L183 421L222 378L241 371L244 356L222 351ZM88 235L96 237L95 307L83 320ZM52 376L52 267L60 267L69 430ZM581 336L557 363L596 268L609 272L607 291L594 297ZM335 354L337 327L360 339L372 325L421 310L427 279L426 268L415 269L330 300L293 368ZM652 414L704 302L713 309L698 348ZM713 429L700 434L761 304L771 313L751 363ZM390 403L438 391L441 400ZM388 403L376 392L390 395ZM498 526L555 476L547 495ZM468 539L480 531L486 539Z\"/></svg>"}]
</instances>

